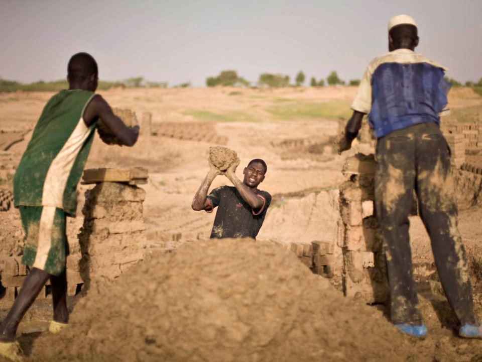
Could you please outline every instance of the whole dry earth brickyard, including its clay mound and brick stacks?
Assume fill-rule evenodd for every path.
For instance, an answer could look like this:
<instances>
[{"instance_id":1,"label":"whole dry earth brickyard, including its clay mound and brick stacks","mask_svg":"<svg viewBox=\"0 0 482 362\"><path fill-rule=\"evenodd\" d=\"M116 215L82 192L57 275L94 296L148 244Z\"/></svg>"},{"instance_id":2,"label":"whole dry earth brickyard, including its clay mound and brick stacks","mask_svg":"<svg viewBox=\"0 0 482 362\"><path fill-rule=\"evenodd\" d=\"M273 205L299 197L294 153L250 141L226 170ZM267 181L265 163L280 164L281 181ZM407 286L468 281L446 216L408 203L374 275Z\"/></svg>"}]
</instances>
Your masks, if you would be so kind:
<instances>
[{"instance_id":1,"label":"whole dry earth brickyard, including its clay mound and brick stacks","mask_svg":"<svg viewBox=\"0 0 482 362\"><path fill-rule=\"evenodd\" d=\"M86 168L143 167L148 183L79 186L78 215L68 221L71 322L58 335L45 331L51 319L47 286L19 329L26 360L482 361L482 341L455 335L456 321L416 211L410 235L428 337L398 333L387 319L384 293L375 287L367 293L358 283L370 275L365 281L383 285L383 275L373 278L381 254L368 246L368 234L359 239L367 243L361 247L348 240L356 227L365 232L373 220L370 203L339 198L343 183L361 182L342 172L347 159L374 152L366 130L346 154L334 149L355 92L101 92L112 107L136 114L141 136L126 148L108 146L96 135ZM0 318L28 273L18 263L23 231L11 207L12 177L52 95L0 94ZM452 112L442 120L443 130L454 156L459 229L482 320L482 98L455 88L449 101ZM237 153L239 177L250 159L268 164L260 188L273 201L256 241L208 240L214 213L191 209L212 146ZM212 188L228 183L220 175ZM352 208L357 205L359 210Z\"/></svg>"}]
</instances>

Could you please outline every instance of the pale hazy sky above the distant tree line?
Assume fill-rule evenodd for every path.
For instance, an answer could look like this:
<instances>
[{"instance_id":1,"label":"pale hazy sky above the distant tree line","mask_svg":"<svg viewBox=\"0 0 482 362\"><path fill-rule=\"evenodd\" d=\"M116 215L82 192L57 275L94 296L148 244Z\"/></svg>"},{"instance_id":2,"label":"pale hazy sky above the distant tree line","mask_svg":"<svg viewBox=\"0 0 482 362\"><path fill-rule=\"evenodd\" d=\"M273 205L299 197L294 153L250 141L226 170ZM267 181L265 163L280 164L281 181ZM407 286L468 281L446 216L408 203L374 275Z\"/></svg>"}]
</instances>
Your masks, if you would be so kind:
<instances>
[{"instance_id":1,"label":"pale hazy sky above the distant tree line","mask_svg":"<svg viewBox=\"0 0 482 362\"><path fill-rule=\"evenodd\" d=\"M0 77L32 82L66 76L85 51L99 77L143 76L173 86L234 69L303 70L309 78L361 78L387 47L392 16L418 24L416 51L461 82L482 77L481 0L0 0Z\"/></svg>"}]
</instances>

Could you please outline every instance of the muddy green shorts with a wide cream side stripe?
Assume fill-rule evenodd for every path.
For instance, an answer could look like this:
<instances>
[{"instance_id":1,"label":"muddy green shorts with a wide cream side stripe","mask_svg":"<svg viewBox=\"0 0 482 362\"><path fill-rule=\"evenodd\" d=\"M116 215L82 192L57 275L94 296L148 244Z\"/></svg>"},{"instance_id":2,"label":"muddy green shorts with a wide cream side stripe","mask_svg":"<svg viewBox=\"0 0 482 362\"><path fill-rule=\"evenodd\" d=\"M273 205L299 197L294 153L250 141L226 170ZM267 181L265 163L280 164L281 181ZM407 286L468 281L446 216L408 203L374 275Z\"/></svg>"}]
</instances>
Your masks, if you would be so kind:
<instances>
[{"instance_id":1,"label":"muddy green shorts with a wide cream side stripe","mask_svg":"<svg viewBox=\"0 0 482 362\"><path fill-rule=\"evenodd\" d=\"M53 206L20 206L19 211L25 230L22 263L54 276L61 275L69 254L66 214Z\"/></svg>"}]
</instances>

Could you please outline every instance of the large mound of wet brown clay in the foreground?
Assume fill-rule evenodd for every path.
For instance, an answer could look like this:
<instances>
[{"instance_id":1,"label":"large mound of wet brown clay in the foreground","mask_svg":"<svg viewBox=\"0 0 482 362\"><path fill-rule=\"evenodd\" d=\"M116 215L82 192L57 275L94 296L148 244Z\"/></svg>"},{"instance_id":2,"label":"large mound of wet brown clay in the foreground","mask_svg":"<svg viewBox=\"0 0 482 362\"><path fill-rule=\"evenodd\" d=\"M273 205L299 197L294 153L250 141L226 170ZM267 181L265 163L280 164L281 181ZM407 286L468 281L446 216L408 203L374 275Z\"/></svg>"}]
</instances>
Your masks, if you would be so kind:
<instances>
[{"instance_id":1,"label":"large mound of wet brown clay in the foreground","mask_svg":"<svg viewBox=\"0 0 482 362\"><path fill-rule=\"evenodd\" d=\"M417 360L382 313L290 252L253 239L185 243L92 287L35 361ZM412 359L407 359L412 358Z\"/></svg>"}]
</instances>

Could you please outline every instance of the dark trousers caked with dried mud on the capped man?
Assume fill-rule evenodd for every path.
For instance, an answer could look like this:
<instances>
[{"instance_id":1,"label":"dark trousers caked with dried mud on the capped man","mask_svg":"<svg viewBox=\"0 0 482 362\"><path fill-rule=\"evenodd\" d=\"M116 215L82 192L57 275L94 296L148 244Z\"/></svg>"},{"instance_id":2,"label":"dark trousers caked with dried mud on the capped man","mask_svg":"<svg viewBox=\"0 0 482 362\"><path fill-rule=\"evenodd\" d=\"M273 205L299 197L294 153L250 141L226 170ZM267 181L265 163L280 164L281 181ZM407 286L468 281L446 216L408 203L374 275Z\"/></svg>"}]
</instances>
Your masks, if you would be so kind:
<instances>
[{"instance_id":1,"label":"dark trousers caked with dried mud on the capped man","mask_svg":"<svg viewBox=\"0 0 482 362\"><path fill-rule=\"evenodd\" d=\"M376 158L376 212L385 241L392 322L422 320L408 232L415 190L448 302L461 324L474 324L465 249L457 228L450 150L439 126L427 122L379 138Z\"/></svg>"}]
</instances>

